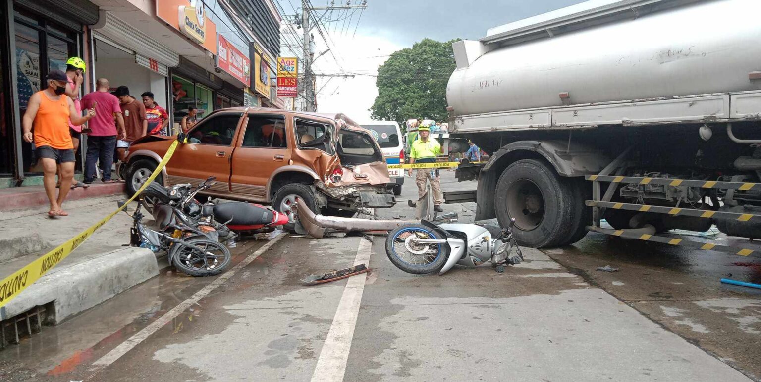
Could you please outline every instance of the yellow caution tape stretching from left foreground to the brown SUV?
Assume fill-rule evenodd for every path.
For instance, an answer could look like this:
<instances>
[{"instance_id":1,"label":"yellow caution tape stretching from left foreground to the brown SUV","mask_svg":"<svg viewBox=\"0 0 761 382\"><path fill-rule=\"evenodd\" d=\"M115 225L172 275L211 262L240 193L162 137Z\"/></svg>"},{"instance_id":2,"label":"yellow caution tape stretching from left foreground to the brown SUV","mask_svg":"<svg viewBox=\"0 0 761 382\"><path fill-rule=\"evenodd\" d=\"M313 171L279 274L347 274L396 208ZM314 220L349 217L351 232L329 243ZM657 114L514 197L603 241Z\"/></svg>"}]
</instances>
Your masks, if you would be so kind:
<instances>
[{"instance_id":1,"label":"yellow caution tape stretching from left foreground to the brown SUV","mask_svg":"<svg viewBox=\"0 0 761 382\"><path fill-rule=\"evenodd\" d=\"M119 207L116 209L116 211L113 211L108 216L101 219L98 223L95 223L94 225L90 226L90 228L80 232L75 237L68 239L68 241L53 249L53 251L49 251L44 256L32 261L30 264L27 264L26 267L17 270L11 274L11 276L3 279L2 282L0 282L0 308L8 304L8 301L11 301L16 296L21 294L24 289L27 289L30 285L32 285L32 283L37 281L37 279L40 279L40 277L47 273L47 271L51 270L53 267L56 267L56 265L58 265L61 260L68 257L72 251L84 243L84 241L87 240L95 231L97 231L97 229L106 224L111 218L113 218L113 216L121 212L121 210L124 210L127 204L131 203L132 200L135 200L135 197L138 197L138 195L141 194L142 191L145 190L145 188L148 187L151 182L153 182L159 172L161 172L161 169L164 169L164 166L167 166L167 162L169 162L172 154L174 154L174 149L177 148L177 144L178 141L175 140L151 176L148 177L142 187L137 192L135 192L135 194L129 198L127 203L125 203L122 207Z\"/></svg>"}]
</instances>

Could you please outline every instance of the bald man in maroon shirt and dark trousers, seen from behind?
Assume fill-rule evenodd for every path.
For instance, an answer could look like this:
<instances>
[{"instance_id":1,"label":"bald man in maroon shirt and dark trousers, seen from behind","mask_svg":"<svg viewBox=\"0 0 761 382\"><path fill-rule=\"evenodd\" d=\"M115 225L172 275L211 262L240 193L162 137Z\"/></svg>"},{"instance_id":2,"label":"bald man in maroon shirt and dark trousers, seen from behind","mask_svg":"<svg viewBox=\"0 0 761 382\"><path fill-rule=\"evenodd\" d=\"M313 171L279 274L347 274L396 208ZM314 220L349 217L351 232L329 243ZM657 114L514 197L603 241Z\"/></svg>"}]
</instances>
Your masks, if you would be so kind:
<instances>
[{"instance_id":1,"label":"bald man in maroon shirt and dark trousers, seen from behind","mask_svg":"<svg viewBox=\"0 0 761 382\"><path fill-rule=\"evenodd\" d=\"M117 125L119 139L126 138L124 131L124 118L119 99L108 93L109 84L105 78L99 78L95 83L96 90L82 98L82 106L87 109L95 109L97 115L88 124L88 155L84 159L84 182L92 183L95 178L95 162L100 163L100 171L103 172L103 183L113 183L111 179L111 166L113 166L113 153L116 150ZM116 123L114 122L116 116Z\"/></svg>"}]
</instances>

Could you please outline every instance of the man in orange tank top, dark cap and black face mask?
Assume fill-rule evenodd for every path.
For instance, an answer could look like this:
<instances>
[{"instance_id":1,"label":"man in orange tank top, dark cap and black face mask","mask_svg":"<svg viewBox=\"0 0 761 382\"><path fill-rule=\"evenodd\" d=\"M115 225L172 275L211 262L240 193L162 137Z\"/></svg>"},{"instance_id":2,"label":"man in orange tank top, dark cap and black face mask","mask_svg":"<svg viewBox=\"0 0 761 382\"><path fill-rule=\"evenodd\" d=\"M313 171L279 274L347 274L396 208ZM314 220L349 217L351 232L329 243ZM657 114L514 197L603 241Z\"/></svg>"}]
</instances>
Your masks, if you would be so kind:
<instances>
[{"instance_id":1,"label":"man in orange tank top, dark cap and black face mask","mask_svg":"<svg viewBox=\"0 0 761 382\"><path fill-rule=\"evenodd\" d=\"M48 216L68 216L61 206L72 185L76 160L68 122L80 126L94 117L95 110L88 110L88 115L84 117L78 115L74 101L65 96L68 77L64 72L50 71L46 80L48 87L34 93L29 99L29 106L21 125L24 128L24 140L34 142L34 146L37 147L35 152L43 165L43 184L50 201ZM56 197L58 164L61 165L61 188Z\"/></svg>"}]
</instances>

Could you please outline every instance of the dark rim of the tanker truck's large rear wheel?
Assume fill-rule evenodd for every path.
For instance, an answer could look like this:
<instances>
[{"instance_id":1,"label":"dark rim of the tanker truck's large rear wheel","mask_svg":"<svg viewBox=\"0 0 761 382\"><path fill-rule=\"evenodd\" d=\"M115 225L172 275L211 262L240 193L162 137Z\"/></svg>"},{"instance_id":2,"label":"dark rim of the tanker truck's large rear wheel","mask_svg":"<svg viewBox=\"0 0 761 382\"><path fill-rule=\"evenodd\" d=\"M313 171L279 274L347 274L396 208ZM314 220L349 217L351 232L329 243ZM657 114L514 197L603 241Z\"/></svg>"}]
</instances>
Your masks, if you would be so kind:
<instances>
[{"instance_id":1,"label":"dark rim of the tanker truck's large rear wheel","mask_svg":"<svg viewBox=\"0 0 761 382\"><path fill-rule=\"evenodd\" d=\"M508 188L508 216L515 218L521 231L531 231L542 223L545 212L544 194L536 183L520 179Z\"/></svg>"}]
</instances>

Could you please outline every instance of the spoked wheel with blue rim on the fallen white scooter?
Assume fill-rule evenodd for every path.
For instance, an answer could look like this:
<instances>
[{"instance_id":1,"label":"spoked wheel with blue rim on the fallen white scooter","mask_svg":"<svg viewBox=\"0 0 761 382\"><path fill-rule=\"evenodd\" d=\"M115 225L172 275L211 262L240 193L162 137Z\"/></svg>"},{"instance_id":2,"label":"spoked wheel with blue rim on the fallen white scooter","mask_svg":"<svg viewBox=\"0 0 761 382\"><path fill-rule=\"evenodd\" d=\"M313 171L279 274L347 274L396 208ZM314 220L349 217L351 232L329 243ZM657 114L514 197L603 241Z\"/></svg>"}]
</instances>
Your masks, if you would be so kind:
<instances>
[{"instance_id":1,"label":"spoked wheel with blue rim on the fallen white scooter","mask_svg":"<svg viewBox=\"0 0 761 382\"><path fill-rule=\"evenodd\" d=\"M424 274L441 270L449 257L449 247L446 244L419 243L416 238L445 239L441 233L426 226L400 226L386 239L389 260L407 273Z\"/></svg>"}]
</instances>

